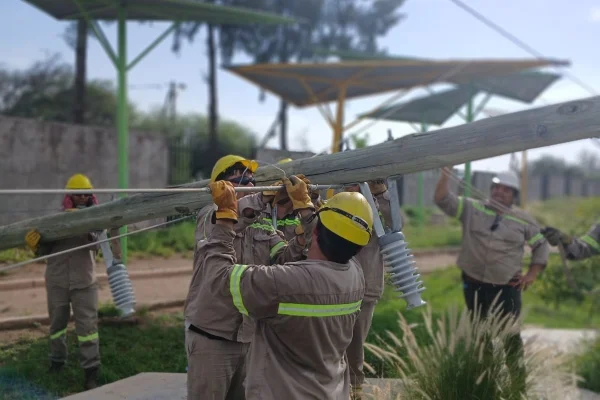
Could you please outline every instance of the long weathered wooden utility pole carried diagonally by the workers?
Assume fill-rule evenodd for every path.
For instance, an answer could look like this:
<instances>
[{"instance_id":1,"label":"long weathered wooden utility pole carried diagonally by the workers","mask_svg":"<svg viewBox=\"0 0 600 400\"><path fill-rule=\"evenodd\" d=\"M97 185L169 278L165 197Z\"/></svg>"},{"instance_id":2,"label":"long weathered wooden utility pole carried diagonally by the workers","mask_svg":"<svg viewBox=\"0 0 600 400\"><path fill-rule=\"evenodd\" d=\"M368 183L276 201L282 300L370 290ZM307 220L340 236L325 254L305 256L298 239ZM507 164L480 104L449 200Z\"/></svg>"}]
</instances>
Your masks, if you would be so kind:
<instances>
[{"instance_id":1,"label":"long weathered wooden utility pole carried diagonally by the workers","mask_svg":"<svg viewBox=\"0 0 600 400\"><path fill-rule=\"evenodd\" d=\"M364 149L321 155L258 169L258 184L281 178L281 170L305 174L313 183L354 183L432 170L517 151L600 136L600 96L530 109ZM184 187L204 187L207 180ZM207 193L148 193L0 227L0 250L21 246L37 229L54 240L92 230L188 213L212 202Z\"/></svg>"}]
</instances>

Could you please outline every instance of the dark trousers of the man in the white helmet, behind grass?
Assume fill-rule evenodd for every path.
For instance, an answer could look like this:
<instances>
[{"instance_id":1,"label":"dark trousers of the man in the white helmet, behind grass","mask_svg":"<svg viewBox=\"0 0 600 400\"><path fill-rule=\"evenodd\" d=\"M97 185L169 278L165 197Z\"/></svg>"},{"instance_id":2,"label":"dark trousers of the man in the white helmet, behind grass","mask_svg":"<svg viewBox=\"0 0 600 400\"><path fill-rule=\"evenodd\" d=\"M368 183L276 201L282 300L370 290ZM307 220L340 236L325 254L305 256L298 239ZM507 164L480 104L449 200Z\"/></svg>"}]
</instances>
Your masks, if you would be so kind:
<instances>
[{"instance_id":1,"label":"dark trousers of the man in the white helmet, behind grass","mask_svg":"<svg viewBox=\"0 0 600 400\"><path fill-rule=\"evenodd\" d=\"M467 308L480 318L486 318L492 305L499 308L499 317L507 314L518 318L521 314L521 291L510 285L492 285L489 283L472 282L463 274L463 291ZM496 300L496 296L498 299ZM496 300L496 303L492 304ZM491 347L488 346L488 347ZM525 389L525 367L523 340L520 333L508 335L504 343L506 364L511 374L515 389ZM490 349L491 351L491 349Z\"/></svg>"}]
</instances>

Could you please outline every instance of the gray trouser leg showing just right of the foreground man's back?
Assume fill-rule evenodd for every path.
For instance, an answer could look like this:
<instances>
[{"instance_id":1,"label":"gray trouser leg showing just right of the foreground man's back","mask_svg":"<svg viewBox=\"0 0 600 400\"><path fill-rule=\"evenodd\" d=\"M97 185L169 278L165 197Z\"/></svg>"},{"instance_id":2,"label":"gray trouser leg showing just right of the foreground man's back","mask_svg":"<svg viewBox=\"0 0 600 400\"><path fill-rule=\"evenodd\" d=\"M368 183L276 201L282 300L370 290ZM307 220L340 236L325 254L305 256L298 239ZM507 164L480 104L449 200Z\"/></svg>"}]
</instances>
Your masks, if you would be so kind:
<instances>
[{"instance_id":1,"label":"gray trouser leg showing just right of the foreground man's back","mask_svg":"<svg viewBox=\"0 0 600 400\"><path fill-rule=\"evenodd\" d=\"M365 380L363 364L365 361L364 344L371 329L373 321L373 312L377 300L363 301L360 306L360 313L354 323L352 332L352 341L346 349L348 355L348 368L350 368L350 384L353 387L361 386Z\"/></svg>"}]
</instances>

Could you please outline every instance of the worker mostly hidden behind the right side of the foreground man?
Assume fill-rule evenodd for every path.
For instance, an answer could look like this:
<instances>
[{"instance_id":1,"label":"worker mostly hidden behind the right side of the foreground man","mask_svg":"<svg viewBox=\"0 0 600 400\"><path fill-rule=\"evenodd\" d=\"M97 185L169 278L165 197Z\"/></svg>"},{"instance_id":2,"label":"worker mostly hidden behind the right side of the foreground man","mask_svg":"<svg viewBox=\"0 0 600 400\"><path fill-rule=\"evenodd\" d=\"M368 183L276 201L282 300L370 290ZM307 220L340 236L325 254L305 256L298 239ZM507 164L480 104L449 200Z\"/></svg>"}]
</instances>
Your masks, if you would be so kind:
<instances>
[{"instance_id":1,"label":"worker mostly hidden behind the right side of the foreground man","mask_svg":"<svg viewBox=\"0 0 600 400\"><path fill-rule=\"evenodd\" d=\"M390 193L384 180L370 181L369 189L378 208L378 214L384 227L391 229ZM359 185L349 185L346 192L360 192ZM329 204L329 201L325 203ZM401 216L404 220L404 218ZM379 250L377 235L372 235L369 243L356 255L356 261L361 267L365 278L365 295L360 309L360 314L354 325L352 341L348 346L348 367L350 369L350 382L352 385L352 399L361 399L362 385L365 380L364 373L364 344L371 329L375 306L383 295L385 267Z\"/></svg>"}]
</instances>

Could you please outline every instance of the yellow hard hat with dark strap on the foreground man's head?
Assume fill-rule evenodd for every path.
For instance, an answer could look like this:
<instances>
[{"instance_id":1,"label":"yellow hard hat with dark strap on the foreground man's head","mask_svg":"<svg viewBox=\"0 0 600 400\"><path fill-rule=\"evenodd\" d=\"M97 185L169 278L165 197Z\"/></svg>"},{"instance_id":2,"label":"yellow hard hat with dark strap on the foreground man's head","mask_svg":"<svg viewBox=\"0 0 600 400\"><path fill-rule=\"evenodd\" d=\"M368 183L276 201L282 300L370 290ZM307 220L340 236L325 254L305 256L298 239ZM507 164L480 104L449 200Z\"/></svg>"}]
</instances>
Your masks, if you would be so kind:
<instances>
[{"instance_id":1,"label":"yellow hard hat with dark strap on the foreground man's head","mask_svg":"<svg viewBox=\"0 0 600 400\"><path fill-rule=\"evenodd\" d=\"M366 246L373 230L373 210L361 193L341 192L319 209L321 223L336 235Z\"/></svg>"}]
</instances>

